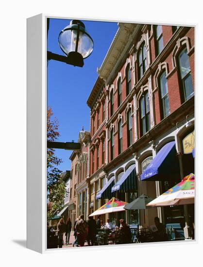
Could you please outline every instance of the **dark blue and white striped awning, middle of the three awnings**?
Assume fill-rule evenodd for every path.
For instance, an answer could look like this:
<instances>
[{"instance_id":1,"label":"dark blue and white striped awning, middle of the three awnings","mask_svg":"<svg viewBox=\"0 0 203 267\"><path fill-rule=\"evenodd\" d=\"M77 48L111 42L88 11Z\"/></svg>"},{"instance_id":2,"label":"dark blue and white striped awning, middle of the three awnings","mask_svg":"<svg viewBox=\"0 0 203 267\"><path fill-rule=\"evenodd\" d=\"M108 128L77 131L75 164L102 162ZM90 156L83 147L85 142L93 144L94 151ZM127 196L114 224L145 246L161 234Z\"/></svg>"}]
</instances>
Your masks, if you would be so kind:
<instances>
[{"instance_id":1,"label":"dark blue and white striped awning, middle of the three awnings","mask_svg":"<svg viewBox=\"0 0 203 267\"><path fill-rule=\"evenodd\" d=\"M122 177L118 182L112 187L111 192L122 191L127 192L130 190L137 189L137 179L135 173L135 164L131 165L126 172L123 173Z\"/></svg>"}]
</instances>

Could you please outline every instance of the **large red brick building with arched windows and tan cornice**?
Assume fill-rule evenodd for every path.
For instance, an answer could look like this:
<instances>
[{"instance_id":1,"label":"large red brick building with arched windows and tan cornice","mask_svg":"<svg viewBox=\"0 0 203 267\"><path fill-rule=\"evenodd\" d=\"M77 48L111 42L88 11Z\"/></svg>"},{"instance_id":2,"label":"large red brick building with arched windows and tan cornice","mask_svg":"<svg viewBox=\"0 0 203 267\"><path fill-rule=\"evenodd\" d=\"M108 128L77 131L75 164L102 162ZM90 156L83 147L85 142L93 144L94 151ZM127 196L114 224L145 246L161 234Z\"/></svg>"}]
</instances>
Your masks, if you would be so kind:
<instances>
[{"instance_id":1,"label":"large red brick building with arched windows and tan cornice","mask_svg":"<svg viewBox=\"0 0 203 267\"><path fill-rule=\"evenodd\" d=\"M87 100L88 212L112 196L156 198L194 172L194 28L118 23L98 74ZM165 173L141 176L161 150L168 153ZM194 221L194 205L187 206ZM185 213L178 206L120 212L118 218L150 225L159 216L184 224Z\"/></svg>"}]
</instances>

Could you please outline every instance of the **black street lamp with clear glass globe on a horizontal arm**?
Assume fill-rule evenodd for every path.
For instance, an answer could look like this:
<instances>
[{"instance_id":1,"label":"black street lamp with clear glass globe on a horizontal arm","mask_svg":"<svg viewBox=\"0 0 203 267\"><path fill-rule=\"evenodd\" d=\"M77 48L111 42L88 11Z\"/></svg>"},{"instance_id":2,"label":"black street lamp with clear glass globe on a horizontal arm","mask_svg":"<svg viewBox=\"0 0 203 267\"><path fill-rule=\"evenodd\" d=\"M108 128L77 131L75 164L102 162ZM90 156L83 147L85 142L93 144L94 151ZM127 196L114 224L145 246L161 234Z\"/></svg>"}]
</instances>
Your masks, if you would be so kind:
<instances>
[{"instance_id":1,"label":"black street lamp with clear glass globe on a horizontal arm","mask_svg":"<svg viewBox=\"0 0 203 267\"><path fill-rule=\"evenodd\" d=\"M58 41L66 56L48 51L48 60L54 59L78 67L84 66L83 59L92 53L94 46L91 36L85 30L85 24L76 19L71 20L70 25L59 33Z\"/></svg>"}]
</instances>

